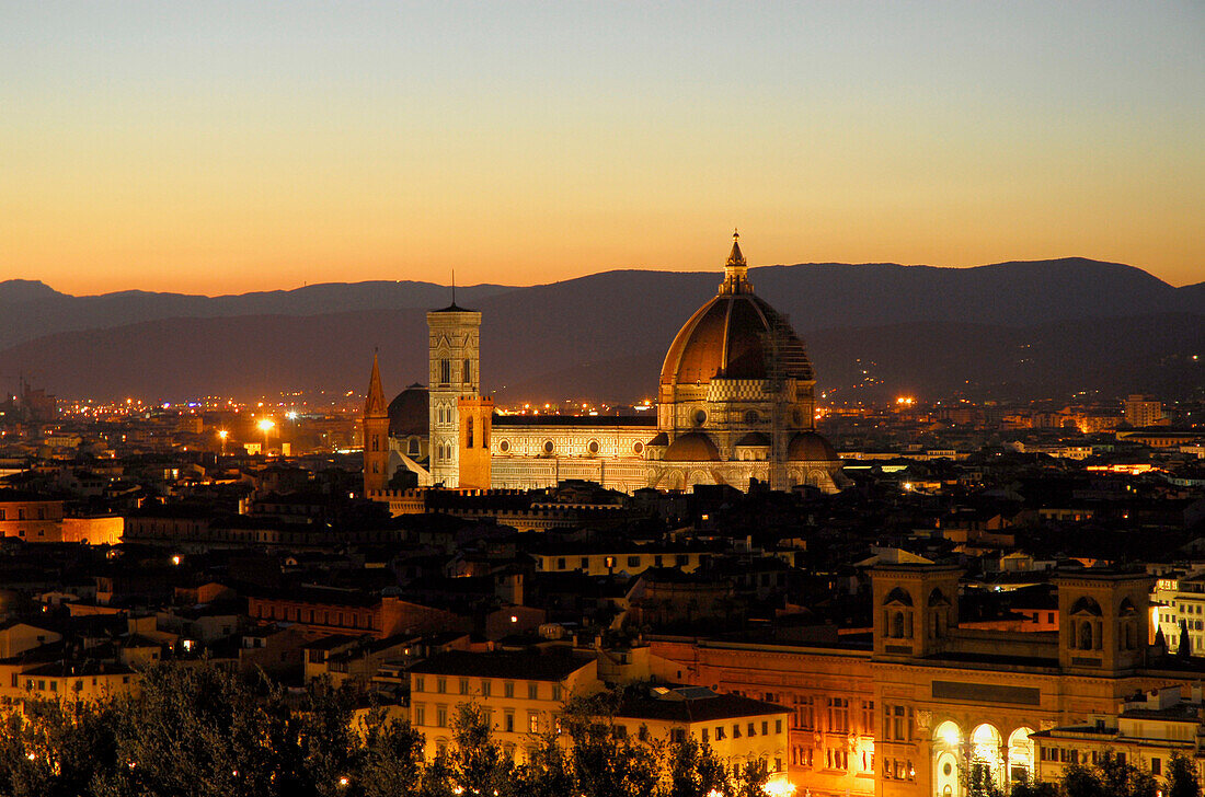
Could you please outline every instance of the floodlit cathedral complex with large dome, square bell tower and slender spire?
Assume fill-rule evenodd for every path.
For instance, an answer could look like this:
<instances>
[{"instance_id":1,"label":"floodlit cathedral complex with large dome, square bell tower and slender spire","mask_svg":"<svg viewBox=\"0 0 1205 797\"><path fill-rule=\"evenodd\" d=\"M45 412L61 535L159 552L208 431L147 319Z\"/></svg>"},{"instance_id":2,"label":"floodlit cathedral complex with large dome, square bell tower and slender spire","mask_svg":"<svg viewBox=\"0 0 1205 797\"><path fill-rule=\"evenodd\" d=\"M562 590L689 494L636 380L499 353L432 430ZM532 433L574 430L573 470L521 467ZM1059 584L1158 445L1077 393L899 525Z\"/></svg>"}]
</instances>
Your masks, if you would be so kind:
<instances>
[{"instance_id":1,"label":"floodlit cathedral complex with large dome, square bell tower and slender spire","mask_svg":"<svg viewBox=\"0 0 1205 797\"><path fill-rule=\"evenodd\" d=\"M427 314L428 385L387 406L376 359L364 407L364 489L413 484L531 489L584 479L631 492L752 480L775 489L846 486L816 432L816 376L787 319L753 293L739 235L716 296L670 343L657 417L498 415L482 396L481 313Z\"/></svg>"}]
</instances>

